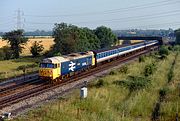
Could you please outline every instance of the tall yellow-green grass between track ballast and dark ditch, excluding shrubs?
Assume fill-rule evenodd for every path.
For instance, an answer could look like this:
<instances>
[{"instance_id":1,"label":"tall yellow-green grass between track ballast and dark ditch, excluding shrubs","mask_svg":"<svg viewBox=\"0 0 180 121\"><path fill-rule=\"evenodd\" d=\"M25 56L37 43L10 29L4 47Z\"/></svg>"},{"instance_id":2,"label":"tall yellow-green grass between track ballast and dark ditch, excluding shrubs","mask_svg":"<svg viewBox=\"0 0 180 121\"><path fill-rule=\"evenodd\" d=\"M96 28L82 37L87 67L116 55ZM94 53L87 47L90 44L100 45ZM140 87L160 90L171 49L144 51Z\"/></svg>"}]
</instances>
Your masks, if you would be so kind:
<instances>
[{"instance_id":1,"label":"tall yellow-green grass between track ballast and dark ditch, excluding shrubs","mask_svg":"<svg viewBox=\"0 0 180 121\"><path fill-rule=\"evenodd\" d=\"M152 111L159 98L159 90L167 83L168 70L174 59L171 53L167 59L156 62L157 70L147 78L151 85L142 90L137 90L129 95L126 87L114 84L117 80L126 80L128 76L143 76L147 64L156 59L146 57L145 62L132 62L127 65L127 73L113 70L110 75L94 80L88 87L88 97L81 100L79 90L72 95L63 97L52 104L44 105L28 113L27 116L18 117L16 121L150 121ZM178 61L180 57L178 56ZM177 62L178 62L177 61ZM179 65L178 65L179 64ZM179 80L180 66L176 64L174 79ZM97 86L101 85L101 86ZM180 103L180 102L179 102ZM173 102L164 104L164 112L171 115L169 107L175 110Z\"/></svg>"}]
</instances>

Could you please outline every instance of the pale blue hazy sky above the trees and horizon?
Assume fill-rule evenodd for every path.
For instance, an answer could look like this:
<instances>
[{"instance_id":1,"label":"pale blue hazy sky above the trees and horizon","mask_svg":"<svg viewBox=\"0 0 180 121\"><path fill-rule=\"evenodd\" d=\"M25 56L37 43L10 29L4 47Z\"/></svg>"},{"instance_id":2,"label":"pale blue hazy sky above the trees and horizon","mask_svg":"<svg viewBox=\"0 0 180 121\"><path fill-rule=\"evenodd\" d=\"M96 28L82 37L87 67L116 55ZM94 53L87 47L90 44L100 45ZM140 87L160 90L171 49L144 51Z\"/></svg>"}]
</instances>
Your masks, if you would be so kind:
<instances>
[{"instance_id":1,"label":"pale blue hazy sky above the trees and horizon","mask_svg":"<svg viewBox=\"0 0 180 121\"><path fill-rule=\"evenodd\" d=\"M179 6L180 0L0 0L0 32L48 31L61 22L91 29L177 29Z\"/></svg>"}]
</instances>

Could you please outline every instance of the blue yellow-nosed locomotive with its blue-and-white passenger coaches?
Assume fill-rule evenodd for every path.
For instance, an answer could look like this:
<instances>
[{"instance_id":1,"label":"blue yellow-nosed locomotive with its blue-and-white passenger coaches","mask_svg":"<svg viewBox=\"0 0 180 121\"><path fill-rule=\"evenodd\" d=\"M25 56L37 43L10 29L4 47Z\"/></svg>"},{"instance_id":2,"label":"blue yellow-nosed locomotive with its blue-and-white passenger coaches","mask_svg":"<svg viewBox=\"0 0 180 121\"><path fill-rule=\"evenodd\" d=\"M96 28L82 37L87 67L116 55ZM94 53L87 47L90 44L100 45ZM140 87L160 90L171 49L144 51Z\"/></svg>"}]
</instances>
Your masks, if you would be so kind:
<instances>
[{"instance_id":1,"label":"blue yellow-nosed locomotive with its blue-and-white passenger coaches","mask_svg":"<svg viewBox=\"0 0 180 121\"><path fill-rule=\"evenodd\" d=\"M59 82L64 78L75 75L77 72L96 67L99 64L129 53L151 48L155 45L159 45L158 40L45 58L40 63L39 77L53 83Z\"/></svg>"}]
</instances>

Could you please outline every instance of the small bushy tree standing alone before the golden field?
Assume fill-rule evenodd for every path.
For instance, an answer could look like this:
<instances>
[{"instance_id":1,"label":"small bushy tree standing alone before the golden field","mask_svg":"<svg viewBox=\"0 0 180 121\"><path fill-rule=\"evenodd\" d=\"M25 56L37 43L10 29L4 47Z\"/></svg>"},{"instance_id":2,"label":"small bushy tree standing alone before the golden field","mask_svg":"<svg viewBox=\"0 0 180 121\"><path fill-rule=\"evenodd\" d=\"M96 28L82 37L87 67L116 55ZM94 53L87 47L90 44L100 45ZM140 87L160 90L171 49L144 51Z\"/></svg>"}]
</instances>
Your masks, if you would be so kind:
<instances>
[{"instance_id":1,"label":"small bushy tree standing alone before the golden field","mask_svg":"<svg viewBox=\"0 0 180 121\"><path fill-rule=\"evenodd\" d=\"M38 55L40 55L40 53L44 50L43 45L41 44L42 41L37 42L35 41L31 47L31 54L36 57Z\"/></svg>"}]
</instances>

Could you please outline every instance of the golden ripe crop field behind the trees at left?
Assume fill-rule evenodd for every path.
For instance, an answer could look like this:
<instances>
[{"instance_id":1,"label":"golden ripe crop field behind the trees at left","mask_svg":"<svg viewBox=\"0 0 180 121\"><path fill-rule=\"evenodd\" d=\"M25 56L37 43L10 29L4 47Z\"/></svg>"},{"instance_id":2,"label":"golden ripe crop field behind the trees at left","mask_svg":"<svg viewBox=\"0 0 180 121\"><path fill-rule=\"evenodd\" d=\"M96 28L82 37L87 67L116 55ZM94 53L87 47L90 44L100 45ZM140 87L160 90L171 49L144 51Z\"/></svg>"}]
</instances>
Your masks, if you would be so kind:
<instances>
[{"instance_id":1,"label":"golden ripe crop field behind the trees at left","mask_svg":"<svg viewBox=\"0 0 180 121\"><path fill-rule=\"evenodd\" d=\"M32 46L32 44L35 42L35 41L42 41L42 45L44 47L44 52L49 50L50 47L54 44L54 38L31 38L28 40L28 42L23 46L24 49L23 49L23 53L22 55L31 55L30 53L30 48ZM2 41L2 39L0 39L0 48L3 47L3 46L6 46L8 45L7 41Z\"/></svg>"}]
</instances>

